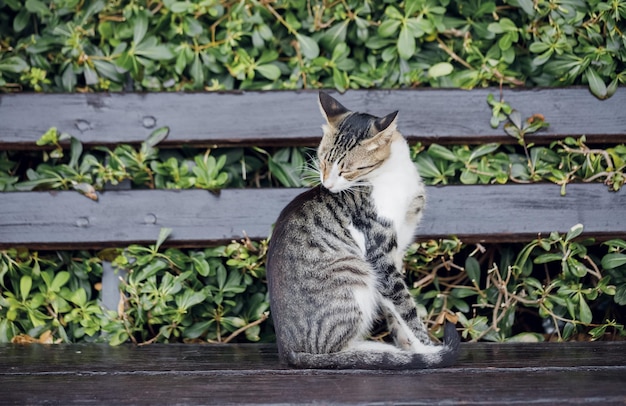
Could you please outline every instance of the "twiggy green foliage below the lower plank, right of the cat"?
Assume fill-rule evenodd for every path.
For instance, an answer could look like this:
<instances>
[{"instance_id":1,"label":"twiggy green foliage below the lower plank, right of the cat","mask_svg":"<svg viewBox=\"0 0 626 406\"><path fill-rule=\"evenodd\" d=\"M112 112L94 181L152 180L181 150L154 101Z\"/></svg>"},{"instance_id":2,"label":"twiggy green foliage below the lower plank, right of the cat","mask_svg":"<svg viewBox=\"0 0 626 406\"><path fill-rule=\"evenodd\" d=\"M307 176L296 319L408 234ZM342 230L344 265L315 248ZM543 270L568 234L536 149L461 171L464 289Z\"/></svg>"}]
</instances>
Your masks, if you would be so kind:
<instances>
[{"instance_id":1,"label":"twiggy green foliage below the lower plank, right of the cat","mask_svg":"<svg viewBox=\"0 0 626 406\"><path fill-rule=\"evenodd\" d=\"M609 241L607 251L578 239L582 231L578 224L521 250L477 246L468 252L453 240L416 244L407 256L409 280L431 323L458 321L463 337L474 341L626 335L626 244Z\"/></svg>"}]
</instances>

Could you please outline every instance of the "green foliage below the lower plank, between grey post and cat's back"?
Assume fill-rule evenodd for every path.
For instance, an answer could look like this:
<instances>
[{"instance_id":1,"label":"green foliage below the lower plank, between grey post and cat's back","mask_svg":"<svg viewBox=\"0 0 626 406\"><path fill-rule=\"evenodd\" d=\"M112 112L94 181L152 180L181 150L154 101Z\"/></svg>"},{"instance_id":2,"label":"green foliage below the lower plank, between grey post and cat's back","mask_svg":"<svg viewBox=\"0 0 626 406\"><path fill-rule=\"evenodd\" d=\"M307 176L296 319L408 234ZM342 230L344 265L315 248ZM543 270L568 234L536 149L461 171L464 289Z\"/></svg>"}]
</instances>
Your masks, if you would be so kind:
<instances>
[{"instance_id":1,"label":"green foliage below the lower plank, between grey post and cat's back","mask_svg":"<svg viewBox=\"0 0 626 406\"><path fill-rule=\"evenodd\" d=\"M269 307L262 283L266 244L160 252L166 236L154 246L131 245L115 258L128 276L118 310L107 312L102 326L109 342L229 342L244 332L248 341L259 341Z\"/></svg>"}]
</instances>

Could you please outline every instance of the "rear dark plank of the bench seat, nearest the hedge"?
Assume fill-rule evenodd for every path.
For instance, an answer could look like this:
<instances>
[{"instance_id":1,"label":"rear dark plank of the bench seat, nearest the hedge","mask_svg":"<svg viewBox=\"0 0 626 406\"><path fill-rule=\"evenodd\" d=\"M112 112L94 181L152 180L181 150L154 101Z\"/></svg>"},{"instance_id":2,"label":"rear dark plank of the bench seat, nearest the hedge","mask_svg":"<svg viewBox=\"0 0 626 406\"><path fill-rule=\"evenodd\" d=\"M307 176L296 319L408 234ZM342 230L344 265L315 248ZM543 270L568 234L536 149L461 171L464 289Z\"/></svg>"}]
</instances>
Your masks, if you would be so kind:
<instances>
[{"instance_id":1,"label":"rear dark plank of the bench seat, nearest the hedge","mask_svg":"<svg viewBox=\"0 0 626 406\"><path fill-rule=\"evenodd\" d=\"M275 344L0 344L0 376L8 374L162 373L272 370L289 374ZM457 365L481 369L626 367L626 341L463 343ZM281 372L283 371L283 372ZM292 371L293 372L293 371ZM405 373L414 373L407 372Z\"/></svg>"}]
</instances>

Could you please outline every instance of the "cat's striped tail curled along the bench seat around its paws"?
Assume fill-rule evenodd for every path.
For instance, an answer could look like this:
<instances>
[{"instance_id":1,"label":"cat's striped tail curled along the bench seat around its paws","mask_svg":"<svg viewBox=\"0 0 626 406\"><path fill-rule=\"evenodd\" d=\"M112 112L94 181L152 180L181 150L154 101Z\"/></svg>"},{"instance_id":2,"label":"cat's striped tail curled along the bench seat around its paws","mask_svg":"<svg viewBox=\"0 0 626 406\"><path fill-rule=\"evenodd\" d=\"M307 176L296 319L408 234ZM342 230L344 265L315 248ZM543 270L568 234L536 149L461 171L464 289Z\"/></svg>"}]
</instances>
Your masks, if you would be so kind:
<instances>
[{"instance_id":1,"label":"cat's striped tail curled along the bench seat around its paws","mask_svg":"<svg viewBox=\"0 0 626 406\"><path fill-rule=\"evenodd\" d=\"M460 337L452 323L444 327L443 345L433 353L385 350L346 350L330 354L288 352L289 365L312 369L424 369L453 365L459 355ZM391 347L391 346L390 346Z\"/></svg>"}]
</instances>

